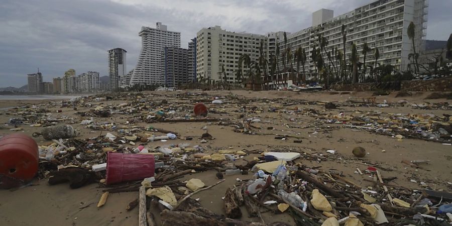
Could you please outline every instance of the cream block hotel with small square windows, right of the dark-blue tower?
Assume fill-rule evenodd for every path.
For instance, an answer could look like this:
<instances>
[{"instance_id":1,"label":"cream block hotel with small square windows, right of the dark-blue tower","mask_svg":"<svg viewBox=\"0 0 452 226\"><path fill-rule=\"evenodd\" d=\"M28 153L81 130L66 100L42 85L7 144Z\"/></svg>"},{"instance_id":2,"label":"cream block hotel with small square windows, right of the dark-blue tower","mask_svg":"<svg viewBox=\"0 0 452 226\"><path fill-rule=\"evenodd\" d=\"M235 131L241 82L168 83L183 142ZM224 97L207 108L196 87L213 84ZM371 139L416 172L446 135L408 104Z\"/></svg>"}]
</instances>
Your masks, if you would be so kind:
<instances>
[{"instance_id":1,"label":"cream block hotel with small square windows, right of the dark-blue tower","mask_svg":"<svg viewBox=\"0 0 452 226\"><path fill-rule=\"evenodd\" d=\"M259 58L260 43L264 42L267 55L267 37L249 33L222 30L220 26L203 28L196 34L196 78L220 81L222 66L229 83L237 82L239 58L248 54L251 61ZM244 66L245 67L245 66ZM224 77L224 75L221 75Z\"/></svg>"}]
</instances>

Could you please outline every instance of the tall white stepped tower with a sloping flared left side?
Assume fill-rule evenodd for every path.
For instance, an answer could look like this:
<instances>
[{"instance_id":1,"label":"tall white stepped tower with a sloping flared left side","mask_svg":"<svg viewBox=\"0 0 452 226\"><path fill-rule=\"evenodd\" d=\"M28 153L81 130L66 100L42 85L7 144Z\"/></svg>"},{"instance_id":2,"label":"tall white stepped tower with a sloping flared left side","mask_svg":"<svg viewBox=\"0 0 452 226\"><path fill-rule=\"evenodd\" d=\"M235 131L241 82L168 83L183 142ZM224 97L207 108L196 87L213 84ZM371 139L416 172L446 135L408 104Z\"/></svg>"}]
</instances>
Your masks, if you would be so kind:
<instances>
[{"instance_id":1,"label":"tall white stepped tower with a sloping flared left side","mask_svg":"<svg viewBox=\"0 0 452 226\"><path fill-rule=\"evenodd\" d=\"M156 28L142 27L139 36L141 52L130 84L163 84L162 50L166 46L180 48L180 33L157 22Z\"/></svg>"}]
</instances>

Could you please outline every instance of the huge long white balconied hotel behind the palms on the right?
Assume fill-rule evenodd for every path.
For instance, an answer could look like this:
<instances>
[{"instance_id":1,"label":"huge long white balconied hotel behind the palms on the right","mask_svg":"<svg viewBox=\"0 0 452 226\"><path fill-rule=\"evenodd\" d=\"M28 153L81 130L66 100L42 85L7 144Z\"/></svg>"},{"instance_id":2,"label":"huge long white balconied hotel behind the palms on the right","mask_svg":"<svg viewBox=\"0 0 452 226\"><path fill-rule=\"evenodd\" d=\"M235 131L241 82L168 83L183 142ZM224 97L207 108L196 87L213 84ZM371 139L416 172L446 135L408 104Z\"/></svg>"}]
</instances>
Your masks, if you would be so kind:
<instances>
[{"instance_id":1,"label":"huge long white balconied hotel behind the palms on the right","mask_svg":"<svg viewBox=\"0 0 452 226\"><path fill-rule=\"evenodd\" d=\"M347 61L352 43L355 43L360 56L359 61L363 62L362 45L367 42L371 49L378 47L380 52L378 63L391 64L400 70L406 70L410 63L408 55L413 53L412 41L407 35L408 25L410 22L415 24L416 51L422 52L426 37L427 13L428 0L379 0L334 18L332 11L322 9L313 13L312 27L287 35L287 44L292 51L300 45L305 49L307 55L305 69L309 78L309 75L317 73L310 55L314 46L318 48L318 35L328 40L327 51L337 48L344 52L341 33L344 24L347 31L345 51ZM281 39L279 46L280 51L285 49ZM366 62L374 61L372 50L367 54ZM326 59L325 64L328 64Z\"/></svg>"}]
</instances>

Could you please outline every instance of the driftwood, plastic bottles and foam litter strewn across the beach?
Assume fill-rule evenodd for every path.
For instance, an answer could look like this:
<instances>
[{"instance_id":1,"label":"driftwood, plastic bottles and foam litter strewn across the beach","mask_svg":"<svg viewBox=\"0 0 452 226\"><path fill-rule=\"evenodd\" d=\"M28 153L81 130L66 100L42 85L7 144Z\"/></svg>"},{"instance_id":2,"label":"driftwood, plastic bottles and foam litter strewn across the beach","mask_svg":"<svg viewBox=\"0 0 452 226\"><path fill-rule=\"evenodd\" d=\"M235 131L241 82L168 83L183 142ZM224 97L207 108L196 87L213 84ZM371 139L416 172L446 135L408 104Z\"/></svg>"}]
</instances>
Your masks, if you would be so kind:
<instances>
[{"instance_id":1,"label":"driftwood, plastic bottles and foam litter strewn across the beach","mask_svg":"<svg viewBox=\"0 0 452 226\"><path fill-rule=\"evenodd\" d=\"M398 140L422 139L450 145L450 115L391 114L378 109L366 112L362 109L363 106L382 108L409 104L406 101L377 104L372 99L355 98L349 102L332 103L244 98L233 94L172 95L177 102L169 102L168 95L155 93L118 93L25 105L8 110L7 114L14 117L5 127L11 131L23 131L27 126L42 128L33 134L48 141L37 148L37 175L41 180L48 179L50 185L68 182L75 189L98 183L104 193L97 207L107 204L110 193L139 192L139 198L131 200L126 207L131 210L139 206L139 225L290 225L287 222L266 223L261 217L265 212L289 214L297 225L450 225L448 222L452 222L452 204L447 204L452 201L452 193L428 185L412 190L389 184L395 178L385 177L383 171L387 169L378 163L362 159L366 156L362 147L350 150L355 156L351 160L335 150L307 153L284 148L239 150L190 144L206 144L215 139L207 132L209 124L231 127L235 132L251 137L270 135L275 139L293 139L294 143L302 143L305 138L299 134L277 131L271 125L262 127L262 124L271 122L269 117L260 115L277 112L279 118L287 118L286 128L300 129L295 123L300 117L314 117L311 125L303 128L311 128L312 134L352 128ZM203 103L209 103L206 104L209 107ZM196 104L201 105L193 110ZM340 114L330 111L344 106L360 109L341 111ZM53 107L71 107L77 117L56 117L49 110ZM412 107L420 106L413 104ZM445 103L430 104L429 107L452 109ZM210 114L221 118L210 118ZM164 123L202 123L207 126L202 128L206 131L203 134L182 136L180 131L159 129ZM154 127L156 124L159 128ZM77 127L88 129L92 136L80 138ZM170 140L180 142L165 145ZM297 161L300 158L313 163L359 162L365 168L357 168L356 174L373 185L359 185L341 171L303 164ZM416 168L425 162L404 163ZM217 182L206 185L197 178L181 179L205 171L212 172ZM236 175L248 175L248 179L239 179ZM10 175L0 176L0 180L7 177L14 179L14 175ZM224 193L224 215L204 208L192 198L196 193L223 183L228 177L236 178L236 183L220 191ZM21 178L17 179L24 184ZM0 185L8 187L6 183ZM261 222L241 221L245 214L242 206L249 216L260 217ZM160 217L154 215L156 212ZM161 222L156 222L156 218Z\"/></svg>"}]
</instances>

